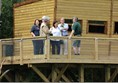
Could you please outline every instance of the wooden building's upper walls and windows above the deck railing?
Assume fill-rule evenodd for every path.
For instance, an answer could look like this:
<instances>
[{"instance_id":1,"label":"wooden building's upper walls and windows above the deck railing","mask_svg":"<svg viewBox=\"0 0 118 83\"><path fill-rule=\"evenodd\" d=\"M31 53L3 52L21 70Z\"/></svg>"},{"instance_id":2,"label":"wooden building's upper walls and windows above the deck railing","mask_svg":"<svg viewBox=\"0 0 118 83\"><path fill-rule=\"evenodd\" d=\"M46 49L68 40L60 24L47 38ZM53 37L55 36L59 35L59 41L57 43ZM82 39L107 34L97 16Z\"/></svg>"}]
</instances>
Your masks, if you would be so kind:
<instances>
[{"instance_id":1,"label":"wooden building's upper walls and windows above the deck railing","mask_svg":"<svg viewBox=\"0 0 118 83\"><path fill-rule=\"evenodd\" d=\"M64 17L70 25L77 16L84 37L117 37L117 10L117 0L26 0L14 5L14 37L31 36L34 19L44 15L51 18L50 24Z\"/></svg>"}]
</instances>

